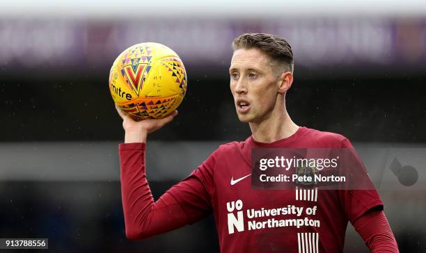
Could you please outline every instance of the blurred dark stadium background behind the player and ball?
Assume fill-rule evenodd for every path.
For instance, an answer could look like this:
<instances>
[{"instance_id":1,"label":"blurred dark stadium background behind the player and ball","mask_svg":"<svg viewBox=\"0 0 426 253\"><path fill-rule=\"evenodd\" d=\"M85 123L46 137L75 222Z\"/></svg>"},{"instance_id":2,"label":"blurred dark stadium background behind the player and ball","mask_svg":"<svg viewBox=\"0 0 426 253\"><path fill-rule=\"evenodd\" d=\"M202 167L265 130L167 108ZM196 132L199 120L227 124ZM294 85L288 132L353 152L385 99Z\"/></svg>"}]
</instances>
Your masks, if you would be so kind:
<instances>
[{"instance_id":1,"label":"blurred dark stadium background behind the player and ball","mask_svg":"<svg viewBox=\"0 0 426 253\"><path fill-rule=\"evenodd\" d=\"M292 45L287 107L297 124L341 133L360 154L426 147L424 1L2 2L0 238L49 238L52 252L218 252L212 217L125 238L123 129L108 74L123 49L148 41L171 47L187 68L180 114L149 136L157 198L219 144L250 135L228 88L230 45L244 32ZM401 252L426 252L424 164L420 188L380 189ZM350 225L345 252L368 252Z\"/></svg>"}]
</instances>

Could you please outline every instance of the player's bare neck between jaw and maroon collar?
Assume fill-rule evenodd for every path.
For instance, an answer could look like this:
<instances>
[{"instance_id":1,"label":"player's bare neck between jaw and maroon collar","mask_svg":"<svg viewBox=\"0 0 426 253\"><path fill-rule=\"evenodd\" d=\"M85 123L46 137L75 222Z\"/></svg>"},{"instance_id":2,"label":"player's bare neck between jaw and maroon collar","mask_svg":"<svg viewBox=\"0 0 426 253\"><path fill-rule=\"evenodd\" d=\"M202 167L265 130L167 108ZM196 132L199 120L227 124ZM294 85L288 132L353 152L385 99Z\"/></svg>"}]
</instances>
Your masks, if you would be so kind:
<instances>
[{"instance_id":1,"label":"player's bare neck between jaw and maroon collar","mask_svg":"<svg viewBox=\"0 0 426 253\"><path fill-rule=\"evenodd\" d=\"M274 112L271 112L271 114L272 113ZM297 132L299 126L294 124L285 107L283 111L275 111L275 114L276 115L270 115L260 123L249 123L255 141L265 143L275 142L288 138Z\"/></svg>"}]
</instances>

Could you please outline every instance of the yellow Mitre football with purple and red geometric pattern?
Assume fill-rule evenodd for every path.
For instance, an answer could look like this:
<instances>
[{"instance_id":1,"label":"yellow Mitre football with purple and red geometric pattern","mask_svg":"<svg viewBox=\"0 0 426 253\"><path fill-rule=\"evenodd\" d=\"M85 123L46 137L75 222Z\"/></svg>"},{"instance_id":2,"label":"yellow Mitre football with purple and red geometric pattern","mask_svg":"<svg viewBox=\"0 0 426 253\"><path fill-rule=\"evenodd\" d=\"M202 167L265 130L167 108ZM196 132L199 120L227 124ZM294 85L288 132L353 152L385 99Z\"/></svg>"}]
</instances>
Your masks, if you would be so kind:
<instances>
[{"instance_id":1,"label":"yellow Mitre football with purple and red geometric pattern","mask_svg":"<svg viewBox=\"0 0 426 253\"><path fill-rule=\"evenodd\" d=\"M145 42L125 49L109 73L116 105L135 120L161 118L178 108L187 92L187 73L178 54Z\"/></svg>"}]
</instances>

